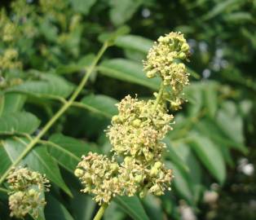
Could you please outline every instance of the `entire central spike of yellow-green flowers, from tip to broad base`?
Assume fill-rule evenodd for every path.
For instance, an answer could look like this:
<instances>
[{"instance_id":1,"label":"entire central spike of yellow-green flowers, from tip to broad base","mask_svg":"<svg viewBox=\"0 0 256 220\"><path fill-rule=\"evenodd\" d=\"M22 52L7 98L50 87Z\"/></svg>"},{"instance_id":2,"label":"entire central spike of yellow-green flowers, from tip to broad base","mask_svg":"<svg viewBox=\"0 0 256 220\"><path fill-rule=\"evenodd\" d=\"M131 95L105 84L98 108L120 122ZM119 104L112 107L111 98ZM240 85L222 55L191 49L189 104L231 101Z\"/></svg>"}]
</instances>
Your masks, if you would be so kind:
<instances>
[{"instance_id":1,"label":"entire central spike of yellow-green flowers, from tip to broad base","mask_svg":"<svg viewBox=\"0 0 256 220\"><path fill-rule=\"evenodd\" d=\"M109 203L116 195L139 193L143 197L150 192L160 196L170 190L173 175L162 162L166 148L162 139L172 130L174 117L168 113L166 100L176 108L181 104L180 93L188 84L188 73L176 59L187 55L188 44L182 34L160 37L144 62L148 77L158 74L163 81L157 99L144 101L127 95L117 104L118 114L106 130L113 147L112 159L92 152L82 156L75 175L82 181L82 191L94 194L99 205Z\"/></svg>"}]
</instances>

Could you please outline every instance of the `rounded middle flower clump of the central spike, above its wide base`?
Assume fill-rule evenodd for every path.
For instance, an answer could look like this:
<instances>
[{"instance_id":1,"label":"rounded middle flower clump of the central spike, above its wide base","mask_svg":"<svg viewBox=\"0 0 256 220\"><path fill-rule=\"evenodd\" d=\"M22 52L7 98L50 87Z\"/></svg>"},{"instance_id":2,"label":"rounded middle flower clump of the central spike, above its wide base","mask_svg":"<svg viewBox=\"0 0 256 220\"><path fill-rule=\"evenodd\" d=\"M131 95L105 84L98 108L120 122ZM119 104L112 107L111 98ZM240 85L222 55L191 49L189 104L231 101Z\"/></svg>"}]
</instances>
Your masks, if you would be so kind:
<instances>
[{"instance_id":1,"label":"rounded middle flower clump of the central spike, above its wide base","mask_svg":"<svg viewBox=\"0 0 256 220\"><path fill-rule=\"evenodd\" d=\"M160 141L171 130L173 116L161 104L155 108L153 100L139 101L130 95L117 107L119 114L113 117L107 130L113 152L122 156L143 156L144 160L151 161L166 147Z\"/></svg>"}]
</instances>

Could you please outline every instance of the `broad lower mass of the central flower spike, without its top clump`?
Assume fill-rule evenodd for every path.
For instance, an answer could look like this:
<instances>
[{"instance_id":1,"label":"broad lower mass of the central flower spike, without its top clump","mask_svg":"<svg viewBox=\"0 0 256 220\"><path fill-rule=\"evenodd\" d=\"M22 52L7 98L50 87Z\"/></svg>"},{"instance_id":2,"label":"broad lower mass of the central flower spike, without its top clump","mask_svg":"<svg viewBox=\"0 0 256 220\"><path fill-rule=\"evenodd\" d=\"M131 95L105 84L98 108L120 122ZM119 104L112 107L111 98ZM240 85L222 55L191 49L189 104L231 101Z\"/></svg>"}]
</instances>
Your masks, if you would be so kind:
<instances>
[{"instance_id":1,"label":"broad lower mass of the central flower spike, without its top clump","mask_svg":"<svg viewBox=\"0 0 256 220\"><path fill-rule=\"evenodd\" d=\"M108 126L107 136L113 145L112 160L97 153L83 156L75 175L85 186L83 192L94 194L95 201L108 203L113 196L143 197L150 192L160 196L169 188L170 169L161 163L166 144L161 142L171 130L173 116L166 108L127 95L117 104L119 114ZM117 156L124 160L121 164Z\"/></svg>"}]
</instances>

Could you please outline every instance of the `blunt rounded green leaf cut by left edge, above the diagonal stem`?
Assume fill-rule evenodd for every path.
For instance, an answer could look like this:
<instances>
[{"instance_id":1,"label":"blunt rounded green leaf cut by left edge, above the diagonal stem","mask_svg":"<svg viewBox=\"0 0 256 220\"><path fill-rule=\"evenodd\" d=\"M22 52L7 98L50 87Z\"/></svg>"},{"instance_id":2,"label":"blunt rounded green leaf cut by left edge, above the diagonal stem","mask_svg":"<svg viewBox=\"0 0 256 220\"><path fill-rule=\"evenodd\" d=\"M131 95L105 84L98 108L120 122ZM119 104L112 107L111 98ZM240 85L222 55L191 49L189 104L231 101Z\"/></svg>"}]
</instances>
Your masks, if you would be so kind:
<instances>
[{"instance_id":1,"label":"blunt rounded green leaf cut by left edge, above the diagonal stem","mask_svg":"<svg viewBox=\"0 0 256 220\"><path fill-rule=\"evenodd\" d=\"M15 112L0 117L0 134L32 134L40 121L29 112Z\"/></svg>"}]
</instances>

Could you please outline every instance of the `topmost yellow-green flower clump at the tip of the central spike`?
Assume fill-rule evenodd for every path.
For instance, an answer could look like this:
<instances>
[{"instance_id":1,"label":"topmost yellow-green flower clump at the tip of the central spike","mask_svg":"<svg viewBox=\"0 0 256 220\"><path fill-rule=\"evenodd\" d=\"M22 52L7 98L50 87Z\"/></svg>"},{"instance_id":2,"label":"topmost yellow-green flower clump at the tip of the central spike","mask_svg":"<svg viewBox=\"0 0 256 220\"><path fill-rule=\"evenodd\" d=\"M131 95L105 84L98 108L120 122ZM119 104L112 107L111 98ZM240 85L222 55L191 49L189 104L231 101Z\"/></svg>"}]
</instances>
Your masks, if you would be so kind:
<instances>
[{"instance_id":1,"label":"topmost yellow-green flower clump at the tip of the central spike","mask_svg":"<svg viewBox=\"0 0 256 220\"><path fill-rule=\"evenodd\" d=\"M165 86L171 86L169 101L175 110L183 103L183 88L188 85L188 72L180 61L188 59L189 46L181 33L159 37L143 61L147 77L160 76Z\"/></svg>"}]
</instances>

